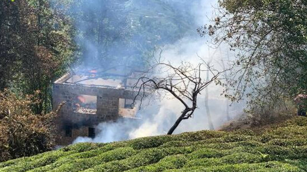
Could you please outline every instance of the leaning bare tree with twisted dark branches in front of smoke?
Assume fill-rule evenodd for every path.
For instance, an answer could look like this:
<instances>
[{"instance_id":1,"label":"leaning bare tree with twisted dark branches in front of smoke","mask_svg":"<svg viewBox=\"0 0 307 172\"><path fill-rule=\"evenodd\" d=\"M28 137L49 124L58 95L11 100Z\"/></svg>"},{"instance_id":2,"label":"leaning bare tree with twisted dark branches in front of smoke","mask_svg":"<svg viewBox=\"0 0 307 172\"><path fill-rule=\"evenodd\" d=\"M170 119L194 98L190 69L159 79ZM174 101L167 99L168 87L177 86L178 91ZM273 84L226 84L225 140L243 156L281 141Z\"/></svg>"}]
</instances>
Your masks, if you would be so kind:
<instances>
[{"instance_id":1,"label":"leaning bare tree with twisted dark branches in front of smoke","mask_svg":"<svg viewBox=\"0 0 307 172\"><path fill-rule=\"evenodd\" d=\"M161 57L161 54L160 54ZM158 74L153 74L158 73ZM209 80L202 79L205 73L210 73ZM192 117L197 108L197 97L214 81L219 80L222 72L209 66L202 58L195 66L190 62L181 62L172 65L170 62L161 62L156 59L147 74L141 76L134 85L135 100L142 100L151 95L171 95L184 105L184 110L173 126L169 129L171 135L182 120Z\"/></svg>"}]
</instances>

